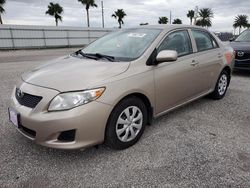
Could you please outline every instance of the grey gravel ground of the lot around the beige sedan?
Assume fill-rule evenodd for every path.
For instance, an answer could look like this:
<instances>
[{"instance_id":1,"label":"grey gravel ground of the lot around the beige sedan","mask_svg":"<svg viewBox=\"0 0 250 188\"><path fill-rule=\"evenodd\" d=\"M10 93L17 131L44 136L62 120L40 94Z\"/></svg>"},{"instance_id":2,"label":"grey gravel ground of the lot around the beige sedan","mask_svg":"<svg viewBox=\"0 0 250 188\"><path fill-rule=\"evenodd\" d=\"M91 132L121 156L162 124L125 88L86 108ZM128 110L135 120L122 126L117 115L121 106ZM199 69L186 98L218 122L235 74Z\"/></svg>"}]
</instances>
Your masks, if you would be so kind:
<instances>
[{"instance_id":1,"label":"grey gravel ground of the lot around the beige sedan","mask_svg":"<svg viewBox=\"0 0 250 188\"><path fill-rule=\"evenodd\" d=\"M0 187L250 187L250 72L233 76L223 100L155 120L129 149L63 151L35 145L8 121L15 82L45 52L18 53L0 52Z\"/></svg>"}]
</instances>

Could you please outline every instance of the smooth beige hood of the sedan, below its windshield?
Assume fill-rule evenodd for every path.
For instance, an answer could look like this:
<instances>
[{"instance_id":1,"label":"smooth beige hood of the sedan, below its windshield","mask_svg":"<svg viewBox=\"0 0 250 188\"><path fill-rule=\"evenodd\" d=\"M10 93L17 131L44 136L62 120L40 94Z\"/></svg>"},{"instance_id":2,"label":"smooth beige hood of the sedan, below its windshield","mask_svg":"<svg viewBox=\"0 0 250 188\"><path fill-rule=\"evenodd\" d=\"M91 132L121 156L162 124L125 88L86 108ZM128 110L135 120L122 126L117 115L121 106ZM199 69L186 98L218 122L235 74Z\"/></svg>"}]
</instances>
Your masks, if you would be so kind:
<instances>
[{"instance_id":1,"label":"smooth beige hood of the sedan, below its windshield","mask_svg":"<svg viewBox=\"0 0 250 188\"><path fill-rule=\"evenodd\" d=\"M61 92L83 90L125 72L129 62L58 58L22 75L23 81Z\"/></svg>"}]
</instances>

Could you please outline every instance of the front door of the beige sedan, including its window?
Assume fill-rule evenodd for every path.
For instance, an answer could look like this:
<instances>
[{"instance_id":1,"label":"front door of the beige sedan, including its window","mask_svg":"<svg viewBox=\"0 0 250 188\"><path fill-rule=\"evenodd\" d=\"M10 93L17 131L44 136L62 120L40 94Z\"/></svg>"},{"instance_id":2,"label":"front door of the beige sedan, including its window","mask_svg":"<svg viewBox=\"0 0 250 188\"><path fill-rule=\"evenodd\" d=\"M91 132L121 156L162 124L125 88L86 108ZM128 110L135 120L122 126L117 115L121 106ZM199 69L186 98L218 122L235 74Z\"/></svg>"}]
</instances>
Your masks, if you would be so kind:
<instances>
[{"instance_id":1,"label":"front door of the beige sedan, including its window","mask_svg":"<svg viewBox=\"0 0 250 188\"><path fill-rule=\"evenodd\" d=\"M187 30L177 30L168 34L159 47L175 50L178 59L164 62L154 68L156 113L162 113L198 95L196 82L200 75L195 62L195 54Z\"/></svg>"}]
</instances>

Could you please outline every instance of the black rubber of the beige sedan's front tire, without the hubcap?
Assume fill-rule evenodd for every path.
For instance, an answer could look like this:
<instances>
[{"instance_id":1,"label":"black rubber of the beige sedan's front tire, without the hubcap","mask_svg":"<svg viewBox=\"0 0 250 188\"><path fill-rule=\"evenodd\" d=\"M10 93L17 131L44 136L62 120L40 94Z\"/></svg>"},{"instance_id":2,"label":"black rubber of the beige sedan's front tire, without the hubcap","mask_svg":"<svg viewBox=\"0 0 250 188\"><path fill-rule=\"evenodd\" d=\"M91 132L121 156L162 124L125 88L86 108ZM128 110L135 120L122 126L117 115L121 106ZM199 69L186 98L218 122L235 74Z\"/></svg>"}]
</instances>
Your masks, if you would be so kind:
<instances>
[{"instance_id":1,"label":"black rubber of the beige sedan's front tire, without the hubcap","mask_svg":"<svg viewBox=\"0 0 250 188\"><path fill-rule=\"evenodd\" d=\"M135 139L129 142L122 142L116 134L116 123L120 116L120 114L129 106L138 107L143 114L143 122L142 128L139 134L135 137ZM105 144L108 145L112 149L126 149L132 145L134 145L142 136L145 126L147 123L147 107L143 103L143 101L137 97L125 98L121 102L119 102L113 111L110 114L106 131L105 131Z\"/></svg>"}]
</instances>

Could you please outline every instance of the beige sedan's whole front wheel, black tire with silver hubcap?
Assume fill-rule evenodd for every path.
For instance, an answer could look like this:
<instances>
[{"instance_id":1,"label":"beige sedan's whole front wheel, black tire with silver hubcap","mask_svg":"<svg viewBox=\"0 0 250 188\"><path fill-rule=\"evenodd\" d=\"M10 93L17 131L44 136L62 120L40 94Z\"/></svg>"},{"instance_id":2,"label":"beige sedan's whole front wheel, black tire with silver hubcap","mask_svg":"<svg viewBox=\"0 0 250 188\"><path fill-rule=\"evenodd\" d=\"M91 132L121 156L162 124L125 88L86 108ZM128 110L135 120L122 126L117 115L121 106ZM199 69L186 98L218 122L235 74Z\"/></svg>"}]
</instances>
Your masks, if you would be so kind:
<instances>
[{"instance_id":1,"label":"beige sedan's whole front wheel, black tire with silver hubcap","mask_svg":"<svg viewBox=\"0 0 250 188\"><path fill-rule=\"evenodd\" d=\"M141 99L123 99L110 114L105 131L105 144L115 150L134 145L143 134L147 116L147 107Z\"/></svg>"}]
</instances>

